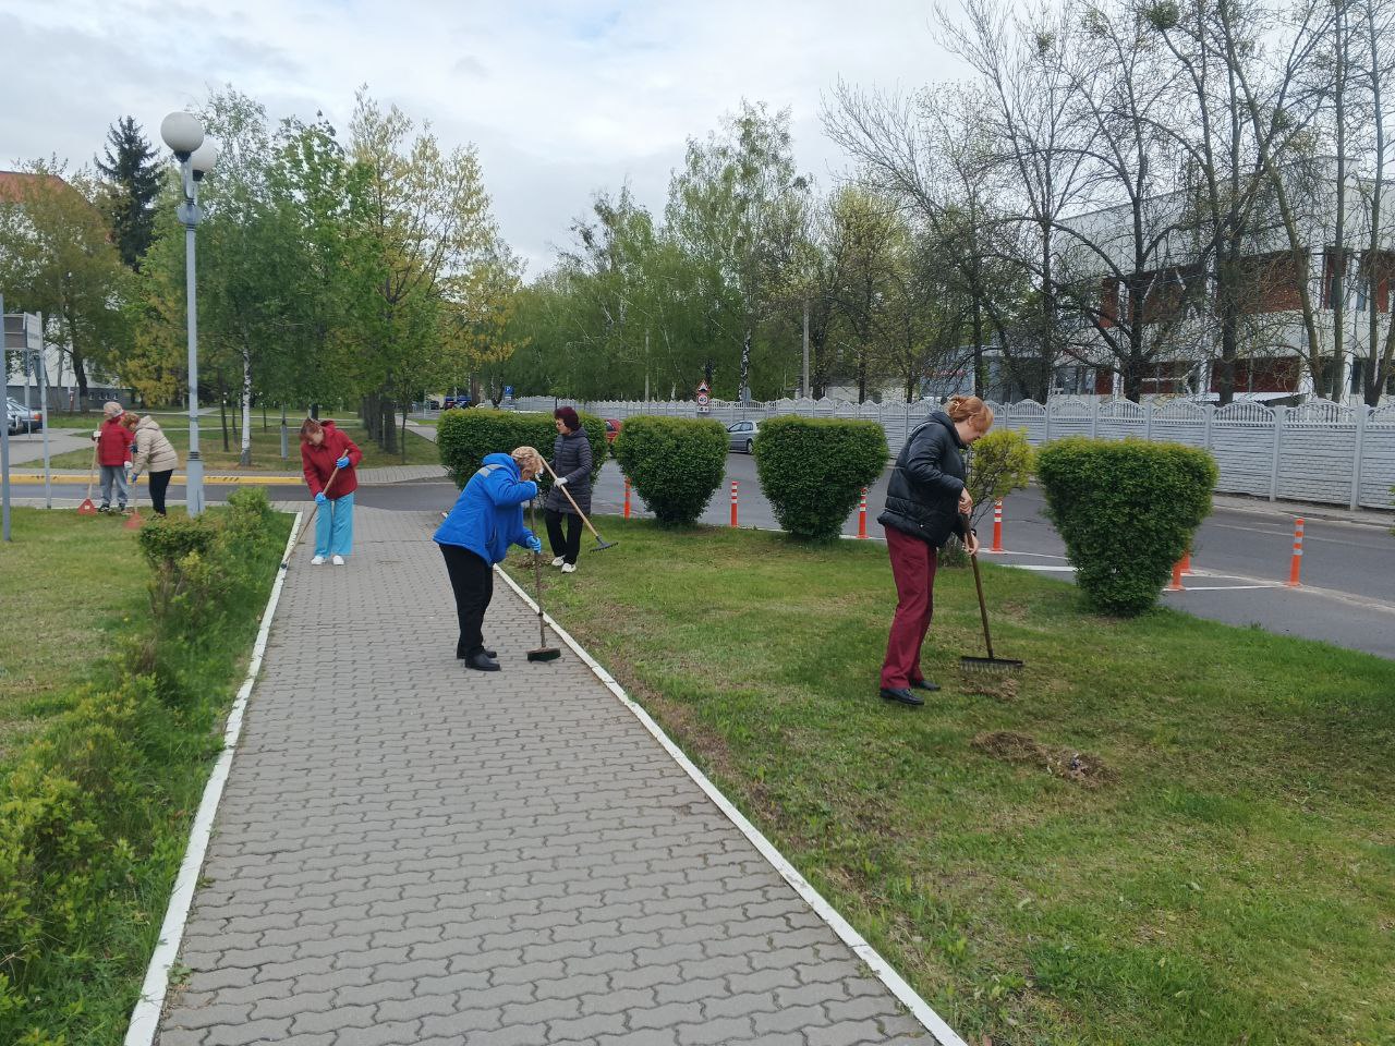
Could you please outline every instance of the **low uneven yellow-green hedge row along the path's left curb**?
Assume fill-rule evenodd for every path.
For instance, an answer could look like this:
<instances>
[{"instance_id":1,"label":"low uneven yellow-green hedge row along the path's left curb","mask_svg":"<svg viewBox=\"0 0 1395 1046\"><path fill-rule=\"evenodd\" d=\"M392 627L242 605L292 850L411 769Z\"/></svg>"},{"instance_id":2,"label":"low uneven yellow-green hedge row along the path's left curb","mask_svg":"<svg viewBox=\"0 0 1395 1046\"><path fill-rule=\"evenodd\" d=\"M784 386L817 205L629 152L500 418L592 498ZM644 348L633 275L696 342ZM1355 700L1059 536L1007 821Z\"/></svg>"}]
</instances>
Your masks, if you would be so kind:
<instances>
[{"instance_id":1,"label":"low uneven yellow-green hedge row along the path's left curb","mask_svg":"<svg viewBox=\"0 0 1395 1046\"><path fill-rule=\"evenodd\" d=\"M261 491L148 522L151 616L7 763L0 1042L120 1038L287 527Z\"/></svg>"}]
</instances>

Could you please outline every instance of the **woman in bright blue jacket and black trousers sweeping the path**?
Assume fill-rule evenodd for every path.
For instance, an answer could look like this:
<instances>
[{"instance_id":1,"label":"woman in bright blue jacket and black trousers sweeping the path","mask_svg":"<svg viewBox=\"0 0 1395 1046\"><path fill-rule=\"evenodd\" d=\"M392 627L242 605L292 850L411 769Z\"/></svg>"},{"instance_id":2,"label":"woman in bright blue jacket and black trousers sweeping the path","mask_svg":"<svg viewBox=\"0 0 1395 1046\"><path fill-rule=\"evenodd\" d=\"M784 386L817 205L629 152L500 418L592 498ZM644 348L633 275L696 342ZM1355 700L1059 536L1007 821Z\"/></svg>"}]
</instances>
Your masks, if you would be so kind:
<instances>
[{"instance_id":1,"label":"woman in bright blue jacket and black trousers sweeping the path","mask_svg":"<svg viewBox=\"0 0 1395 1046\"><path fill-rule=\"evenodd\" d=\"M460 619L455 655L480 672L499 671L495 653L484 649L483 632L484 611L494 598L494 565L509 545L534 555L543 551L543 543L523 526L523 505L537 497L533 477L541 470L543 457L531 446L488 455L435 533Z\"/></svg>"}]
</instances>

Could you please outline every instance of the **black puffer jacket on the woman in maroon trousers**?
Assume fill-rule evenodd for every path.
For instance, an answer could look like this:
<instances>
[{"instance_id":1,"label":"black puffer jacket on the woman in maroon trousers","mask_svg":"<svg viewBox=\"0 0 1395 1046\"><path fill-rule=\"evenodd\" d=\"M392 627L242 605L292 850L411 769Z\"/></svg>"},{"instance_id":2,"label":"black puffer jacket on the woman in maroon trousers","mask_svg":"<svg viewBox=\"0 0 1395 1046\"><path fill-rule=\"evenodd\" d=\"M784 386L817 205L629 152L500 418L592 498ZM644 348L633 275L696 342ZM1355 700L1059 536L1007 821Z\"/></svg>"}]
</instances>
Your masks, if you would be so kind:
<instances>
[{"instance_id":1,"label":"black puffer jacket on the woman in maroon trousers","mask_svg":"<svg viewBox=\"0 0 1395 1046\"><path fill-rule=\"evenodd\" d=\"M918 425L907 438L891 469L886 509L877 516L883 527L914 534L936 548L950 534L964 537L958 497L964 491L964 457L954 423L943 410Z\"/></svg>"}]
</instances>

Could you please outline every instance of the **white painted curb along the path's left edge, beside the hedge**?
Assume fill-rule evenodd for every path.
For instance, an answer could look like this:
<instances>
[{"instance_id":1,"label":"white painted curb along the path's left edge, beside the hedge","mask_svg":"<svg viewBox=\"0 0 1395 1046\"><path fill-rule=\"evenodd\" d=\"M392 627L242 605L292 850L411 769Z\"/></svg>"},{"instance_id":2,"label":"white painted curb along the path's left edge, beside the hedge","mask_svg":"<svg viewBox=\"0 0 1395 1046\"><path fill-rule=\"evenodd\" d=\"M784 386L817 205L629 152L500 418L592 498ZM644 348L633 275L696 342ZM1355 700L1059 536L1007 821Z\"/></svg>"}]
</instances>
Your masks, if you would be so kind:
<instances>
[{"instance_id":1,"label":"white painted curb along the path's left edge, beside the hedge","mask_svg":"<svg viewBox=\"0 0 1395 1046\"><path fill-rule=\"evenodd\" d=\"M223 798L223 785L227 784L227 773L233 766L233 750L243 732L243 714L247 711L247 699L251 696L257 674L261 671L262 654L266 651L266 637L271 635L271 619L276 614L276 604L280 601L280 587L286 582L286 572L280 563L290 556L296 547L296 534L300 531L301 513L296 513L290 524L290 537L286 538L286 551L276 561L276 580L271 587L271 597L266 600L266 609L262 611L261 630L257 633L257 644L252 647L252 660L247 665L247 678L233 700L233 708L227 714L227 725L223 729L223 750L213 764L208 784L204 785L204 798L198 803L198 813L194 814L194 827L188 834L188 848L184 851L184 861L179 866L179 876L174 879L174 893L170 894L169 908L165 909L165 922L160 923L160 940L151 955L151 965L145 971L145 983L141 985L141 999L131 1011L131 1024L126 1029L126 1046L151 1046L155 1033L160 1026L160 1013L165 1010L165 996L169 993L170 968L179 955L179 946L184 937L184 923L188 922L188 911L194 904L194 887L198 886L198 872L204 867L204 856L208 854L208 840L213 833L213 816L218 813L218 803Z\"/></svg>"}]
</instances>

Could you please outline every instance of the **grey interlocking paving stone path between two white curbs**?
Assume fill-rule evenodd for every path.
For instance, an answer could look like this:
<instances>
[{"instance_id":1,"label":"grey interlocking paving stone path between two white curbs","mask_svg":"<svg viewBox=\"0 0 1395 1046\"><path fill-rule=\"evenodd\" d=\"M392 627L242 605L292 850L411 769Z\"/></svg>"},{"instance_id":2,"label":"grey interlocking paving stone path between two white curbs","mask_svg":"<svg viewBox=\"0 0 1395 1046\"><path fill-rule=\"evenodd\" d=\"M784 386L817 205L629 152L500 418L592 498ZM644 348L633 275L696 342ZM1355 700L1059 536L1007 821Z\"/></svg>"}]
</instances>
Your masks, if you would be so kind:
<instances>
[{"instance_id":1,"label":"grey interlocking paving stone path between two white curbs","mask_svg":"<svg viewBox=\"0 0 1395 1046\"><path fill-rule=\"evenodd\" d=\"M432 517L301 544L162 1046L933 1043L578 658L460 668Z\"/></svg>"}]
</instances>

